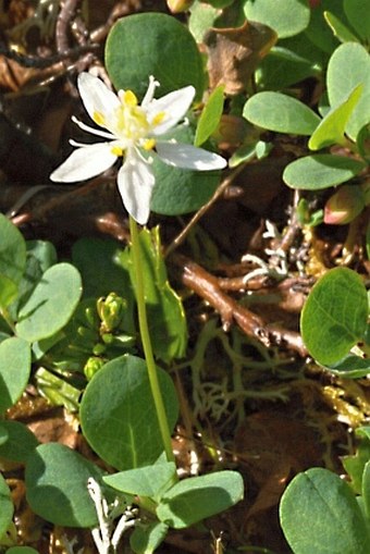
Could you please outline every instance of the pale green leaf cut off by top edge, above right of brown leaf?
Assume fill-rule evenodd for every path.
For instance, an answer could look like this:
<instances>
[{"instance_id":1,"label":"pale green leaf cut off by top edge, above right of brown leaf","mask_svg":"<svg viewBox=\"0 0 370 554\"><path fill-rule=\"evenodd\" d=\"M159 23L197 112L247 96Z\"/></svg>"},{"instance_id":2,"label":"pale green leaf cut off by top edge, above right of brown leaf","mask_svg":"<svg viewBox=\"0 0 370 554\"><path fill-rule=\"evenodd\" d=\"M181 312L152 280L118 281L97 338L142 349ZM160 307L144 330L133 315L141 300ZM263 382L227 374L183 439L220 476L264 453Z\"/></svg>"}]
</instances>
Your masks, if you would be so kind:
<instances>
[{"instance_id":1,"label":"pale green leaf cut off by top edge, above right of brown leaf","mask_svg":"<svg viewBox=\"0 0 370 554\"><path fill-rule=\"evenodd\" d=\"M279 38L297 35L310 19L306 0L246 0L244 12L247 20L272 27Z\"/></svg>"}]
</instances>

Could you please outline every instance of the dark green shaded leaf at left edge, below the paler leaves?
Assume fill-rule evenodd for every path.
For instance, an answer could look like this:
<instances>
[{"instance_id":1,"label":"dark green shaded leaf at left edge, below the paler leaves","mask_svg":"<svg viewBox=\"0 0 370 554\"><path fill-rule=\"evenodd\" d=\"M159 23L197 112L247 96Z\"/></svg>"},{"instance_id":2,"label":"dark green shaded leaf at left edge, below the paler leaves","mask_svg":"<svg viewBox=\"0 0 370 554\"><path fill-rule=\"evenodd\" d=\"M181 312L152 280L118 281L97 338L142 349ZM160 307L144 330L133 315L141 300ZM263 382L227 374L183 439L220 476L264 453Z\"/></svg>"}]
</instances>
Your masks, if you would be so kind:
<instances>
[{"instance_id":1,"label":"dark green shaded leaf at left edge, below the paler leaves","mask_svg":"<svg viewBox=\"0 0 370 554\"><path fill-rule=\"evenodd\" d=\"M34 433L18 421L1 421L0 429L8 433L8 441L0 444L0 456L10 461L24 464L38 445Z\"/></svg>"}]
</instances>

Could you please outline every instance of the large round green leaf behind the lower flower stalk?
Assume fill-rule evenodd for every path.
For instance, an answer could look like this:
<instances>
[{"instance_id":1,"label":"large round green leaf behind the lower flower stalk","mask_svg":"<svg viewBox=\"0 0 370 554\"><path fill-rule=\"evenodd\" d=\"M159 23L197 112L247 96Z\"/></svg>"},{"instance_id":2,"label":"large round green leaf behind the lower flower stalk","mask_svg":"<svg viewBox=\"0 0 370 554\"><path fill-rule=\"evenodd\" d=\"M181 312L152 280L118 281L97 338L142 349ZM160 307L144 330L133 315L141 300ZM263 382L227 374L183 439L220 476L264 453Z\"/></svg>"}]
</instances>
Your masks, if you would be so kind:
<instances>
[{"instance_id":1,"label":"large round green leaf behind the lower flower stalk","mask_svg":"<svg viewBox=\"0 0 370 554\"><path fill-rule=\"evenodd\" d=\"M172 431L177 420L176 392L160 368L158 378ZM96 373L86 387L79 416L90 446L118 469L153 464L164 450L147 367L135 356L115 358Z\"/></svg>"}]
</instances>

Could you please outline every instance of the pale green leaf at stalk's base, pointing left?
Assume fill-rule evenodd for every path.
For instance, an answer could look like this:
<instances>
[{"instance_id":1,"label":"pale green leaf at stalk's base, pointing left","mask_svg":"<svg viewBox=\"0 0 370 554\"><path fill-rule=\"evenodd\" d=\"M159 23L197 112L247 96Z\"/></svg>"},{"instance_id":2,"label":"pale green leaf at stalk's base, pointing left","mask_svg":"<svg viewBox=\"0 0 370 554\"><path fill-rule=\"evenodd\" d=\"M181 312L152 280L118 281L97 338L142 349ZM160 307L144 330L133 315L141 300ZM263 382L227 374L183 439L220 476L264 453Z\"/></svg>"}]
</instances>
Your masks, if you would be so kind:
<instances>
[{"instance_id":1,"label":"pale green leaf at stalk's base, pointing left","mask_svg":"<svg viewBox=\"0 0 370 554\"><path fill-rule=\"evenodd\" d=\"M176 466L168 461L121 471L104 477L103 481L118 491L156 498L169 488L175 475Z\"/></svg>"}]
</instances>

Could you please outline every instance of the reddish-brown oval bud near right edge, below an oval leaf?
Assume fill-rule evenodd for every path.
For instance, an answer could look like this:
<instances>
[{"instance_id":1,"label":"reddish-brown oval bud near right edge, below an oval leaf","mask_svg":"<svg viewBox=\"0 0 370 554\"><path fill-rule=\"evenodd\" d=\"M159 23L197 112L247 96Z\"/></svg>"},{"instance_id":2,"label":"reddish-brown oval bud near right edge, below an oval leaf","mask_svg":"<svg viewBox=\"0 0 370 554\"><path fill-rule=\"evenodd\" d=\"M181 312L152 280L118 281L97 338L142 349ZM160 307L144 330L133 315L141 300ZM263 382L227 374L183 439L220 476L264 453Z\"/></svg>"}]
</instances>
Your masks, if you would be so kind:
<instances>
[{"instance_id":1,"label":"reddish-brown oval bud near right edge, below an oval leaf","mask_svg":"<svg viewBox=\"0 0 370 554\"><path fill-rule=\"evenodd\" d=\"M360 186L343 185L329 198L324 208L324 223L345 225L365 208L365 194Z\"/></svg>"}]
</instances>

